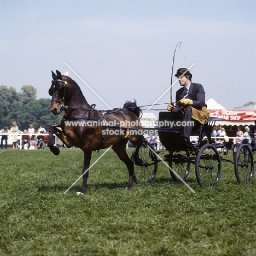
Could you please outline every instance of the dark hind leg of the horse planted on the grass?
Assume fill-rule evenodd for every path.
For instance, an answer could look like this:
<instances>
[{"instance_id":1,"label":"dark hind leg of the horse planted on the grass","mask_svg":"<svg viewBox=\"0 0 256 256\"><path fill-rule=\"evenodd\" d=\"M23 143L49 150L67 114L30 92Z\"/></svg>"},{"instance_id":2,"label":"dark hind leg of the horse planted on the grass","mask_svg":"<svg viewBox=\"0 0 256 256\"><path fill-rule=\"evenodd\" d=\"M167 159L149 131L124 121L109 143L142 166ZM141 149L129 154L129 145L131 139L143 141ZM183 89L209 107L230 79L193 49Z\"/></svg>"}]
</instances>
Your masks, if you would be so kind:
<instances>
[{"instance_id":1,"label":"dark hind leg of the horse planted on the grass","mask_svg":"<svg viewBox=\"0 0 256 256\"><path fill-rule=\"evenodd\" d=\"M122 160L128 171L129 171L129 181L128 185L125 187L125 189L131 189L133 188L133 181L135 179L135 174L134 174L134 167L133 167L133 162L129 158L129 156L126 153L126 143L127 141L124 139L123 141L120 141L118 144L115 144L112 149L114 152L118 155L119 159Z\"/></svg>"}]
</instances>

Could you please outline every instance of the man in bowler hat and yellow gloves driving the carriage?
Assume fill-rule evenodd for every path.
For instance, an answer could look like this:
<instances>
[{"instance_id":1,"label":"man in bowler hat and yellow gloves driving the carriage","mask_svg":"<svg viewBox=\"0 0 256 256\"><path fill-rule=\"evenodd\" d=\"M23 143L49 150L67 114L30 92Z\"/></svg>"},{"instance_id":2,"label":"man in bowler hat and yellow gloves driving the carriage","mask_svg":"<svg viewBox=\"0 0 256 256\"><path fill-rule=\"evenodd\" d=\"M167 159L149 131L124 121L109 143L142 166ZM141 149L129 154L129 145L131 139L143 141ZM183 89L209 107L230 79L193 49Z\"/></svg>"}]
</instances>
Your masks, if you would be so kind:
<instances>
[{"instance_id":1,"label":"man in bowler hat and yellow gloves driving the carriage","mask_svg":"<svg viewBox=\"0 0 256 256\"><path fill-rule=\"evenodd\" d=\"M184 121L187 121L188 125L183 127L183 135L189 138L193 128L189 125L191 120L203 125L210 118L205 104L205 90L201 84L191 83L192 74L187 68L179 68L175 76L182 88L176 92L175 106L170 103L167 109L172 112L184 112Z\"/></svg>"}]
</instances>

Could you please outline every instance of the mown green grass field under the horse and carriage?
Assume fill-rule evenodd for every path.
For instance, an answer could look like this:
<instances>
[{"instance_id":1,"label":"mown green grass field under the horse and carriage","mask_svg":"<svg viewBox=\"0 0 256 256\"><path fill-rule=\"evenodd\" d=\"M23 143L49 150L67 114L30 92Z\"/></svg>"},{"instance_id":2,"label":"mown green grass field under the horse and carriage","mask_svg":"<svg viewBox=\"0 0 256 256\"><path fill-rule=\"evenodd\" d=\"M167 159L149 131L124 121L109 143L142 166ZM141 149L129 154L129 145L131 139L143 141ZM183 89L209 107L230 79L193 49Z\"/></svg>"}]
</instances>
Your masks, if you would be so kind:
<instances>
[{"instance_id":1,"label":"mown green grass field under the horse and carriage","mask_svg":"<svg viewBox=\"0 0 256 256\"><path fill-rule=\"evenodd\" d=\"M109 150L78 196L82 180L64 192L82 172L79 149L8 148L0 159L0 255L256 255L255 177L238 184L232 164L212 189L192 166L195 194L163 164L152 183L124 190L127 170Z\"/></svg>"}]
</instances>

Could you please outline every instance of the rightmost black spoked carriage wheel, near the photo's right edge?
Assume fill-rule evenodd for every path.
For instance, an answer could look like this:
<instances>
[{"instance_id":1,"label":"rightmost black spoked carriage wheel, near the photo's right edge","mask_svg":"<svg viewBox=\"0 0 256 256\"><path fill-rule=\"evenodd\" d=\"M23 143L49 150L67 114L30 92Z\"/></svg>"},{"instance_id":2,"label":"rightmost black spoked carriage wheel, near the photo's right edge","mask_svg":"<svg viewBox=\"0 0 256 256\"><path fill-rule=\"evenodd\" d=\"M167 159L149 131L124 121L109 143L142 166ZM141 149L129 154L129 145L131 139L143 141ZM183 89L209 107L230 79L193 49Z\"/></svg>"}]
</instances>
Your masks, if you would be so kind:
<instances>
[{"instance_id":1,"label":"rightmost black spoked carriage wheel, near the photo's right edge","mask_svg":"<svg viewBox=\"0 0 256 256\"><path fill-rule=\"evenodd\" d=\"M242 144L235 155L235 174L238 183L250 182L254 172L252 150L247 144Z\"/></svg>"}]
</instances>

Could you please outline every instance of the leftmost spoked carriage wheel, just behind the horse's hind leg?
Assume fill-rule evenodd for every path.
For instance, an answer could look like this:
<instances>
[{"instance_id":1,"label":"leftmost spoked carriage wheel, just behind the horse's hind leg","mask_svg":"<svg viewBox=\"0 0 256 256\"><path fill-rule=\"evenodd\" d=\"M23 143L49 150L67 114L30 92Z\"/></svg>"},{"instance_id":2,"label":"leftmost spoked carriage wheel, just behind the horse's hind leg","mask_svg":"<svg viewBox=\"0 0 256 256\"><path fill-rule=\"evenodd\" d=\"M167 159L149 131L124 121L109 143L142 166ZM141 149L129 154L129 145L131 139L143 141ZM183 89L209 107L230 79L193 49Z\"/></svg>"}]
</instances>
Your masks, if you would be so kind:
<instances>
[{"instance_id":1,"label":"leftmost spoked carriage wheel, just behind the horse's hind leg","mask_svg":"<svg viewBox=\"0 0 256 256\"><path fill-rule=\"evenodd\" d=\"M132 153L131 160L134 163L134 181L136 183L152 182L155 178L156 171L158 170L158 161L156 161L158 157L152 150L155 152L154 147L147 142L143 142Z\"/></svg>"}]
</instances>

